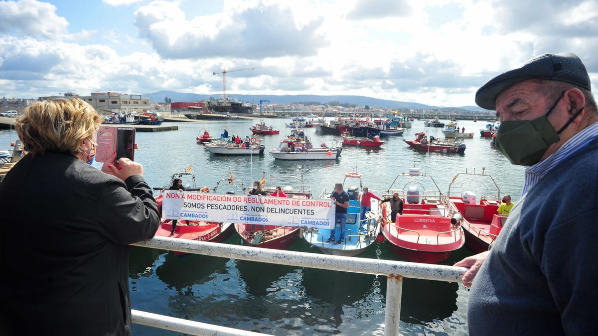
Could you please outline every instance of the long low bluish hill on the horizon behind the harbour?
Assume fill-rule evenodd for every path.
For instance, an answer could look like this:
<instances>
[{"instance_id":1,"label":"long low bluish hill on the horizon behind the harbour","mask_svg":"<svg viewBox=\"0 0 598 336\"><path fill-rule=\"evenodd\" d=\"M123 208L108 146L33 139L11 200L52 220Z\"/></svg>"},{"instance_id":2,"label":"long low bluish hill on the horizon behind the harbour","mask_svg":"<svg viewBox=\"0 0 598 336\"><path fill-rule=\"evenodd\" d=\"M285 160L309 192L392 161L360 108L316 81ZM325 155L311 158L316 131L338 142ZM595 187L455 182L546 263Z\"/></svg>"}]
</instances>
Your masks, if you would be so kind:
<instances>
[{"instance_id":1,"label":"long low bluish hill on the horizon behind the harbour","mask_svg":"<svg viewBox=\"0 0 598 336\"><path fill-rule=\"evenodd\" d=\"M157 91L146 93L144 96L149 97L152 102L164 102L164 97L166 96L169 97L172 102L193 102L194 100L209 99L210 97L218 98L221 95L182 93L176 91ZM365 96L320 96L317 94L228 94L228 97L254 104L259 104L260 100L270 100L270 103L272 104L291 104L296 102L321 102L325 104L337 100L341 103L350 103L358 106L370 105L377 108L441 109L439 106L426 105L422 103L399 102L397 100L377 99ZM466 111L481 110L481 108L478 108L477 106L462 106L460 108L451 109L464 109Z\"/></svg>"}]
</instances>

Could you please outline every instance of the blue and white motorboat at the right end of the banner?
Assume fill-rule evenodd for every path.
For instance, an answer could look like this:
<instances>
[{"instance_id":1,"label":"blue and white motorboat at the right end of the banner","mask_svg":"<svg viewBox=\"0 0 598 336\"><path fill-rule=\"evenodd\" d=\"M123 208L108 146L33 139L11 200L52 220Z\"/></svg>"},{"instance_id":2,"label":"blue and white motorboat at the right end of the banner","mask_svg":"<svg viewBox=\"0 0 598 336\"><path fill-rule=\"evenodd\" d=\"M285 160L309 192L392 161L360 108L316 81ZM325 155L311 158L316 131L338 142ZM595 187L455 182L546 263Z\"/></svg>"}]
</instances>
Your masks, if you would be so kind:
<instances>
[{"instance_id":1,"label":"blue and white motorboat at the right end of the banner","mask_svg":"<svg viewBox=\"0 0 598 336\"><path fill-rule=\"evenodd\" d=\"M320 251L330 255L355 256L364 252L368 247L376 242L376 237L380 233L380 225L382 218L379 215L378 200L371 199L371 211L365 213L365 219L361 220L361 203L360 191L362 186L361 173L351 172L345 173L343 179L343 186L349 184L347 179L358 179L359 187L350 185L347 187L347 194L349 194L349 208L347 209L347 221L345 225L344 241L341 244L334 242L328 243L330 237L330 229L316 229L306 228L303 231L303 238L312 246L320 249ZM351 182L352 183L352 182ZM344 188L344 187L343 187ZM320 195L320 199L329 199L333 187L326 187ZM375 190L370 190L374 194L378 194ZM337 223L335 223L336 225ZM337 225L338 230L335 230L334 241L340 239L340 223Z\"/></svg>"}]
</instances>

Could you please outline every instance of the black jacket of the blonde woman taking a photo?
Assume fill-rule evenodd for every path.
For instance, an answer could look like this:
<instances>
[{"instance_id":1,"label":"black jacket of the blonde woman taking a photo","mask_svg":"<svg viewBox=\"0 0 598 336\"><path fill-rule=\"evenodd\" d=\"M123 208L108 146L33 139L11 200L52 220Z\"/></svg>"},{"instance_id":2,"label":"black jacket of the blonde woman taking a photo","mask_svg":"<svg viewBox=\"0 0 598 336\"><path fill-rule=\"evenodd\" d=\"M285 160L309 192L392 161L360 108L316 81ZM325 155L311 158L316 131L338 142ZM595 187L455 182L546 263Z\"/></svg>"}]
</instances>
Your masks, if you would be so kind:
<instances>
[{"instance_id":1,"label":"black jacket of the blonde woman taking a photo","mask_svg":"<svg viewBox=\"0 0 598 336\"><path fill-rule=\"evenodd\" d=\"M160 221L141 176L26 155L0 184L0 213L0 334L130 334L127 244Z\"/></svg>"}]
</instances>

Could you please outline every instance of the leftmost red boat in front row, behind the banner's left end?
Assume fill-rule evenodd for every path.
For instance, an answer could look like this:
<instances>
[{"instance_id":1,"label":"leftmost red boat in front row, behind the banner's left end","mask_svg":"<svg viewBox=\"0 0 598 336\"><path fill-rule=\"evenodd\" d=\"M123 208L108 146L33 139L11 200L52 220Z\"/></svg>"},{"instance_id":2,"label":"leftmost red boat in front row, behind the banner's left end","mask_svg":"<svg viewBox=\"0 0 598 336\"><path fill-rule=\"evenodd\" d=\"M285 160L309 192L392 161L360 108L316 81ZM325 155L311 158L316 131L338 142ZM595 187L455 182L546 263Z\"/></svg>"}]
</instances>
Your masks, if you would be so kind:
<instances>
[{"instance_id":1,"label":"leftmost red boat in front row, behind the banner's left end","mask_svg":"<svg viewBox=\"0 0 598 336\"><path fill-rule=\"evenodd\" d=\"M167 187L154 188L154 190L167 190L172 185L175 179L181 179L186 191L198 191L196 186L195 175L191 172L177 173L170 178L170 184ZM218 191L218 185L214 188L214 192ZM154 197L158 203L158 211L162 212L162 194ZM161 219L160 226L155 233L155 236L170 237L187 240L200 240L202 242L221 243L230 237L233 233L233 224L226 222L209 222L209 221L193 221L193 220L179 220L176 224L175 233L172 232L172 220ZM185 252L174 252L175 255L186 255Z\"/></svg>"}]
</instances>

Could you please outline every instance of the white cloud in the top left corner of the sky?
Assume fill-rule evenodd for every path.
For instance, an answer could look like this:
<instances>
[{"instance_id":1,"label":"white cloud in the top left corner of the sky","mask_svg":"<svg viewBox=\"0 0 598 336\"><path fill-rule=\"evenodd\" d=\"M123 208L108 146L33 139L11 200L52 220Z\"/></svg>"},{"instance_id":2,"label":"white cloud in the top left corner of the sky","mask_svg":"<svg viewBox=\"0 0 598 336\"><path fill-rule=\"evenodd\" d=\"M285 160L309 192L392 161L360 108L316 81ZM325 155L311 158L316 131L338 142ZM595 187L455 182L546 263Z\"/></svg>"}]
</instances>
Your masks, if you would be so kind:
<instances>
[{"instance_id":1,"label":"white cloud in the top left corner of the sky","mask_svg":"<svg viewBox=\"0 0 598 336\"><path fill-rule=\"evenodd\" d=\"M35 0L0 1L0 33L37 38L60 38L69 23L56 14L56 7Z\"/></svg>"}]
</instances>

